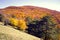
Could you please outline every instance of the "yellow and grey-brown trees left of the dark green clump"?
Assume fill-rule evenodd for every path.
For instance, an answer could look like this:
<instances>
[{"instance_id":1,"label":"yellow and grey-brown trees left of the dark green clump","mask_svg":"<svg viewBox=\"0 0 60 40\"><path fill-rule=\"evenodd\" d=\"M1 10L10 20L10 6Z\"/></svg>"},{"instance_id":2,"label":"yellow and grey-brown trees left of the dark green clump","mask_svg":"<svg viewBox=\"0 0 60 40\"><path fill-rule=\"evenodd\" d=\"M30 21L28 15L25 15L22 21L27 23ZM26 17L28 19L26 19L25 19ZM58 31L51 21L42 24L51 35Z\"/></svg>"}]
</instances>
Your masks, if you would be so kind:
<instances>
[{"instance_id":1,"label":"yellow and grey-brown trees left of the dark green clump","mask_svg":"<svg viewBox=\"0 0 60 40\"><path fill-rule=\"evenodd\" d=\"M25 31L27 29L27 25L25 20L18 20L14 15L11 15L10 18L4 17L3 14L0 14L0 22L3 22L4 25L10 25L15 29Z\"/></svg>"}]
</instances>

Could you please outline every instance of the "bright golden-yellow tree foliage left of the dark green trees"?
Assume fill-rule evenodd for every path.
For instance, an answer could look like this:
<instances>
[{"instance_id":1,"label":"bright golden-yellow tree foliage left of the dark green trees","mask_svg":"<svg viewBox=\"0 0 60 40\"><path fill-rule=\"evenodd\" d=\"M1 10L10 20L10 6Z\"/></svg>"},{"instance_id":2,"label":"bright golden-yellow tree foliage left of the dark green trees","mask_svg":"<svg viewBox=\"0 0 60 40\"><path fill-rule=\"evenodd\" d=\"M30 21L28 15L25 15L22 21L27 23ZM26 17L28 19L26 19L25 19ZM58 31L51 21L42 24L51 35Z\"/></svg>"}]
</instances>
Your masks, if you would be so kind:
<instances>
[{"instance_id":1,"label":"bright golden-yellow tree foliage left of the dark green trees","mask_svg":"<svg viewBox=\"0 0 60 40\"><path fill-rule=\"evenodd\" d=\"M15 27L18 27L21 30L25 30L27 28L26 22L23 19L18 20L15 18L10 18L9 21L12 25L14 25Z\"/></svg>"}]
</instances>

